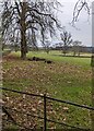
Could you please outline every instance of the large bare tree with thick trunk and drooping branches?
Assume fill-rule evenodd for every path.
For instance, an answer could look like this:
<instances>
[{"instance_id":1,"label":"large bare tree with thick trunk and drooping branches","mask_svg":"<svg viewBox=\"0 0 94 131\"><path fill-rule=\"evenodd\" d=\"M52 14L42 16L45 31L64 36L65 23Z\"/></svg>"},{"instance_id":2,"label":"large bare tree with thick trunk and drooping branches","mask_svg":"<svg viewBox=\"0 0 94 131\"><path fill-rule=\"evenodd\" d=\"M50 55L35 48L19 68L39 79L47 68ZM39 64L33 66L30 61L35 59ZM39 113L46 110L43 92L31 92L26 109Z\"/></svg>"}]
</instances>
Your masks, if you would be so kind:
<instances>
[{"instance_id":1,"label":"large bare tree with thick trunk and drooping branches","mask_svg":"<svg viewBox=\"0 0 94 131\"><path fill-rule=\"evenodd\" d=\"M32 39L32 44L36 45L36 40L45 40L47 33L52 37L56 28L60 28L60 24L54 10L60 5L57 0L51 2L44 0L26 0L21 2L14 0L13 3L5 1L2 11L2 35L4 39L14 39L16 35L20 37L21 58L25 59L27 53L27 39ZM37 34L40 37L37 37ZM30 37L31 36L31 37Z\"/></svg>"}]
</instances>

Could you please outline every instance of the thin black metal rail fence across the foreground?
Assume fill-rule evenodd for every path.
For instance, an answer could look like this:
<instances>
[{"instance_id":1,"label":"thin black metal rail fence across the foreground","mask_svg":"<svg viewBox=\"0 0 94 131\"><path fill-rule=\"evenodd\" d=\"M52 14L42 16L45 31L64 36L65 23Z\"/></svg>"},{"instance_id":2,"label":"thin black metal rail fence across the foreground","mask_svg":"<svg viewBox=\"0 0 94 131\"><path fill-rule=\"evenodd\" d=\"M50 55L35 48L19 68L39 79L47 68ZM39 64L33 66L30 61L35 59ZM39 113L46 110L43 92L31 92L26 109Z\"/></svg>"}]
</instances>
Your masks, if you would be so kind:
<instances>
[{"instance_id":1,"label":"thin black metal rail fence across the foreground","mask_svg":"<svg viewBox=\"0 0 94 131\"><path fill-rule=\"evenodd\" d=\"M3 90L5 92L13 92L13 93L17 93L17 94L25 94L25 95L28 95L28 96L35 96L35 97L43 98L44 99L44 117L34 116L34 115L30 115L30 114L26 114L26 115L31 116L31 117L37 117L38 119L43 119L44 120L44 126L43 126L43 130L44 131L47 131L47 122L54 122L54 123L58 123L58 124L62 124L62 126L69 127L69 128L72 129L72 131L90 131L90 129L73 127L73 126L67 124L64 122L59 122L59 121L47 119L47 99L54 100L54 102L58 102L58 103L62 103L62 104L72 105L72 106L75 106L75 107L79 107L79 108L84 108L84 109L92 110L92 111L94 111L94 107L89 107L89 106L85 106L85 105L79 105L79 104L75 104L75 103L72 103L72 102L68 102L68 100L60 100L60 99L57 99L57 98L52 98L52 97L46 96L46 94L37 95L37 94L20 92L20 91L15 91L15 90L9 90L9 88L5 88L5 87L0 87L0 90ZM4 111L8 115L8 117L13 121L13 123L15 123L19 127L21 127L19 123L16 123L16 121L8 112L8 107L2 106L2 111ZM17 110L15 110L15 111L17 111ZM23 128L26 129L26 127L23 127ZM27 129L27 130L30 130L30 129Z\"/></svg>"}]
</instances>

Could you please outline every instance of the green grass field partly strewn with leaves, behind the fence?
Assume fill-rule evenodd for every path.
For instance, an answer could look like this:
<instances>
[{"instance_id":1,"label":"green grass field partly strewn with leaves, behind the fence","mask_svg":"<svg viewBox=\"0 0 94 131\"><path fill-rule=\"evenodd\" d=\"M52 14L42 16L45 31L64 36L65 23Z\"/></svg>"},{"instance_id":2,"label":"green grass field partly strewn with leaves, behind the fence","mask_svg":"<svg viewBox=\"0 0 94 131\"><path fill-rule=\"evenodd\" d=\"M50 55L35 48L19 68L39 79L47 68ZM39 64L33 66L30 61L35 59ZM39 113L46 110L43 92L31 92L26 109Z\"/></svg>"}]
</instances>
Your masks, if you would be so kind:
<instances>
[{"instance_id":1,"label":"green grass field partly strewn with leaves, behind the fence","mask_svg":"<svg viewBox=\"0 0 94 131\"><path fill-rule=\"evenodd\" d=\"M20 52L12 52L4 57L3 86L35 94L46 93L55 98L91 106L91 59L61 57L58 55L59 52L57 53L57 51L51 51L49 55L43 51L34 51L27 55L27 58L36 56L52 60L51 64L43 61L23 61L19 58ZM7 96L10 97L10 100L16 99L14 106L19 108L17 100L20 100L21 96L17 98L16 95L12 94L7 94ZM38 106L39 99L34 100ZM13 106L8 100L7 104L10 107ZM32 105L34 104L32 103ZM64 106L67 107L66 109L63 108ZM50 108L48 106L48 110ZM48 117L50 116L51 119L59 119L72 126L91 128L91 117L87 110L58 104L54 104L52 109L55 112L48 111ZM50 123L49 127L55 126Z\"/></svg>"}]
</instances>

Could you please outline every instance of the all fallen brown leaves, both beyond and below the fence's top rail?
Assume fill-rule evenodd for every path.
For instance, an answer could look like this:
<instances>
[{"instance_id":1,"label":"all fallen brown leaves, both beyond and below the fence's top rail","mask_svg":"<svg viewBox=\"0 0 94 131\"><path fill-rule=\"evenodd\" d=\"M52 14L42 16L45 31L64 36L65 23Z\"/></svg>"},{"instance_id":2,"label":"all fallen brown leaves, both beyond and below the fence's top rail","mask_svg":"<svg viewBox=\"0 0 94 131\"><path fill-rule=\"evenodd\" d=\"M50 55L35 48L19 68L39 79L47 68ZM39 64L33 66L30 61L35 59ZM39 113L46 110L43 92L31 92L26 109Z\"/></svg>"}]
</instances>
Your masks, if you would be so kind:
<instances>
[{"instance_id":1,"label":"all fallen brown leaves, both beyond and below the fence's top rail","mask_svg":"<svg viewBox=\"0 0 94 131\"><path fill-rule=\"evenodd\" d=\"M9 83L10 87L22 88L28 93L44 94L50 96L46 87L54 85L73 84L74 78L79 83L80 80L86 81L91 79L91 70L81 69L79 66L69 63L51 63L36 61L23 61L15 58L3 59L3 83ZM16 90L16 88L14 88ZM57 91L54 91L57 95ZM44 117L44 102L42 98L34 96L19 95L14 93L3 93L4 106L9 107L11 116L22 126L26 128L37 128L43 126L43 120L35 116ZM56 121L66 122L69 107L56 103L47 102L47 118ZM52 123L49 127L56 128Z\"/></svg>"}]
</instances>

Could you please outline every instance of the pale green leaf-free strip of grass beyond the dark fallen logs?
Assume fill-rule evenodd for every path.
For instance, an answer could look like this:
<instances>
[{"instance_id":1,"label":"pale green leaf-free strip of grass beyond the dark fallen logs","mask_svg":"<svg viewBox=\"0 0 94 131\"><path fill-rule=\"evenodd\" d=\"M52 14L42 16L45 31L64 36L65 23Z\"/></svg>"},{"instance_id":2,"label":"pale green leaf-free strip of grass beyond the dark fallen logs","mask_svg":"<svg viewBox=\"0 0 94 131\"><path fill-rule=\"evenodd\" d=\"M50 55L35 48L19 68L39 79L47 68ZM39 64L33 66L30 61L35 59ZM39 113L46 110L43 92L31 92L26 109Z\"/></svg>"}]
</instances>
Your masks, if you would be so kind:
<instances>
[{"instance_id":1,"label":"pale green leaf-free strip of grass beyond the dark fallen logs","mask_svg":"<svg viewBox=\"0 0 94 131\"><path fill-rule=\"evenodd\" d=\"M12 55L20 57L20 52L12 52ZM50 51L49 55L47 55L45 51L30 51L27 53L27 58L32 57L40 57L40 58L46 58L50 59L54 61L59 61L59 62L68 62L71 64L78 64L82 66L84 68L90 68L91 67L91 58L75 58L75 57L62 57L59 56L62 55L60 51ZM90 55L89 55L90 56Z\"/></svg>"}]
</instances>

